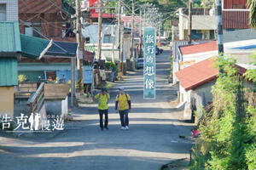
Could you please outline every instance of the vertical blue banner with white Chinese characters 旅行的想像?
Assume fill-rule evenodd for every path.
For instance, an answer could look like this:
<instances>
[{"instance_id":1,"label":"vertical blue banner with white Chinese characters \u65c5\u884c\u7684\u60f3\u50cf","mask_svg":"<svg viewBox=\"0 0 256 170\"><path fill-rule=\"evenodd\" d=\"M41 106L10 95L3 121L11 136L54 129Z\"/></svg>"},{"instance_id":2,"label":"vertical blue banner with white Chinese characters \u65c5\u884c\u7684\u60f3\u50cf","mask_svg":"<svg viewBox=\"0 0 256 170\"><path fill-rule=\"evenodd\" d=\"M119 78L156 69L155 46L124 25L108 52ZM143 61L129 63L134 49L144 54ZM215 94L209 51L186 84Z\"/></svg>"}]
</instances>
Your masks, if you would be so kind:
<instances>
[{"instance_id":1,"label":"vertical blue banner with white Chinese characters \u65c5\u884c\u7684\u60f3\u50cf","mask_svg":"<svg viewBox=\"0 0 256 170\"><path fill-rule=\"evenodd\" d=\"M144 28L144 99L155 99L155 28Z\"/></svg>"}]
</instances>

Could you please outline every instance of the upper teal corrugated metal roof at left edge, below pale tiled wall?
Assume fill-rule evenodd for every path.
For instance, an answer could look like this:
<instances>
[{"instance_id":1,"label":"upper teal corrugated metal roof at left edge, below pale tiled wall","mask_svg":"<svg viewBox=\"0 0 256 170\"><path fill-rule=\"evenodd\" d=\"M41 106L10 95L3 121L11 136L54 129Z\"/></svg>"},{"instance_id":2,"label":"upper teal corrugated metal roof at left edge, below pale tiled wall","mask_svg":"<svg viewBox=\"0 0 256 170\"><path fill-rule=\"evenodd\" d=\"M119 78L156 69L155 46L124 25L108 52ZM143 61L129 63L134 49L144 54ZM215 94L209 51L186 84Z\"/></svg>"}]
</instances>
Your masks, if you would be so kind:
<instances>
[{"instance_id":1,"label":"upper teal corrugated metal roof at left edge, below pale tiled wall","mask_svg":"<svg viewBox=\"0 0 256 170\"><path fill-rule=\"evenodd\" d=\"M0 54L17 53L20 47L18 22L0 22Z\"/></svg>"}]
</instances>

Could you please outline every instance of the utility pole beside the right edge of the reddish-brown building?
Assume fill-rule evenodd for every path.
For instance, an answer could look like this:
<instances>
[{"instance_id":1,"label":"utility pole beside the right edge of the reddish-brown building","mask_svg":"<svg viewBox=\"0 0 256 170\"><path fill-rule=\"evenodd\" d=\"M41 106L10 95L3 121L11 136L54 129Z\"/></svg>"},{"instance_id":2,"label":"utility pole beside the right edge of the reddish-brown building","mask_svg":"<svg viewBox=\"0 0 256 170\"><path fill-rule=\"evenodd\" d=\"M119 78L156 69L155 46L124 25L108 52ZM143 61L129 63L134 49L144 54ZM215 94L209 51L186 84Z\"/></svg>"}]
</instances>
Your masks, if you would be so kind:
<instances>
[{"instance_id":1,"label":"utility pole beside the right edge of the reddish-brown building","mask_svg":"<svg viewBox=\"0 0 256 170\"><path fill-rule=\"evenodd\" d=\"M77 68L78 68L78 78L79 78L79 92L84 94L84 68L83 68L83 45L82 45L82 29L81 29L81 3L79 0L76 0L76 39L78 43L79 53L77 54ZM79 56L81 55L82 56ZM82 59L79 59L82 57Z\"/></svg>"}]
</instances>

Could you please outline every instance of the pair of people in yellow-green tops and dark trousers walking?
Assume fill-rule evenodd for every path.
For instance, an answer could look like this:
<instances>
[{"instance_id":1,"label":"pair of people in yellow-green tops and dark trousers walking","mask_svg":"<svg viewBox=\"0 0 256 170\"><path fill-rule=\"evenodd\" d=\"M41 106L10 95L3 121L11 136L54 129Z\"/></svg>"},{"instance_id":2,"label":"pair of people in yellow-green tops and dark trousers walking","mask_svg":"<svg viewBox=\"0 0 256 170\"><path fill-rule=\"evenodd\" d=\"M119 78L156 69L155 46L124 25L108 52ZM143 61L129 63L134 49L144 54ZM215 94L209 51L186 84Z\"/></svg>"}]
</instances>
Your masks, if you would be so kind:
<instances>
[{"instance_id":1,"label":"pair of people in yellow-green tops and dark trousers walking","mask_svg":"<svg viewBox=\"0 0 256 170\"><path fill-rule=\"evenodd\" d=\"M102 92L96 94L95 99L98 100L98 110L100 116L100 127L102 131L104 128L108 128L108 100L110 99L106 88L102 88ZM128 114L131 110L131 98L129 94L125 94L125 88L119 88L119 94L115 99L115 110L120 117L121 130L129 129L129 117ZM105 122L103 126L103 115L105 116Z\"/></svg>"}]
</instances>

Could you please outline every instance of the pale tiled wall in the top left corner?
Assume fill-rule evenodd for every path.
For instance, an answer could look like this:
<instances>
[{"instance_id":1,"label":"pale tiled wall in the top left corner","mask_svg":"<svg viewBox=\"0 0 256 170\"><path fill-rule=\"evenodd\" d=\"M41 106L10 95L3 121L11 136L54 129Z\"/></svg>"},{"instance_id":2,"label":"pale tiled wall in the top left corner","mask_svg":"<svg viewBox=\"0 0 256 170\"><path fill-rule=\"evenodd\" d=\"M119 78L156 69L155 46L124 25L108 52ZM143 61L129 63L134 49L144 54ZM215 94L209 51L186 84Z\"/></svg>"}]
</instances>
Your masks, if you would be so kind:
<instances>
[{"instance_id":1,"label":"pale tiled wall in the top left corner","mask_svg":"<svg viewBox=\"0 0 256 170\"><path fill-rule=\"evenodd\" d=\"M6 4L6 20L18 21L18 0L0 0L0 3Z\"/></svg>"}]
</instances>

